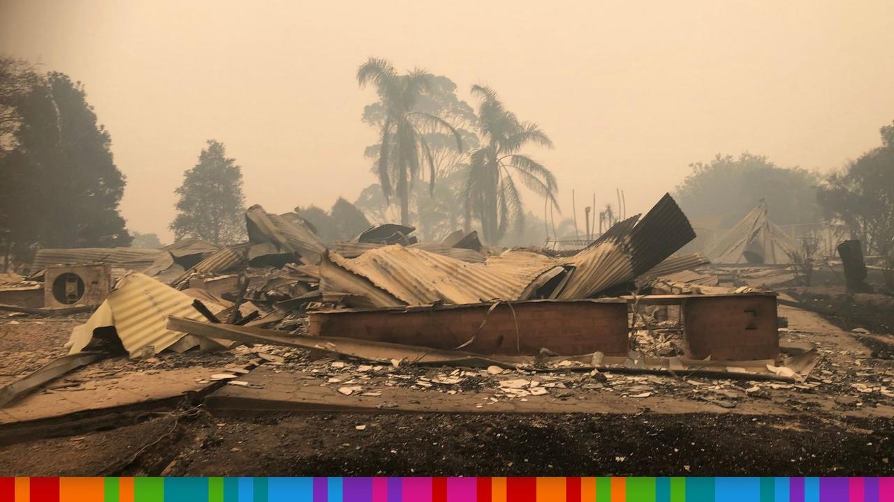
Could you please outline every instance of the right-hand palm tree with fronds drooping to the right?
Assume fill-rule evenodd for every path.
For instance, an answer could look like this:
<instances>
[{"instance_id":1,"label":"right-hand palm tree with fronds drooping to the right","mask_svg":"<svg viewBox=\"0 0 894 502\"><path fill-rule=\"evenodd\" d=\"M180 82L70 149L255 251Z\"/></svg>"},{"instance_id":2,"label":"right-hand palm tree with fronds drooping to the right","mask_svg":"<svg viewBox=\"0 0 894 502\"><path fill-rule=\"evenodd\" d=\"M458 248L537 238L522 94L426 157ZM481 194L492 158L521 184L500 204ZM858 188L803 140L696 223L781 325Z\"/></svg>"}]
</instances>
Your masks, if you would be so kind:
<instances>
[{"instance_id":1,"label":"right-hand palm tree with fronds drooping to the right","mask_svg":"<svg viewBox=\"0 0 894 502\"><path fill-rule=\"evenodd\" d=\"M517 228L525 216L519 189L513 175L530 190L558 209L555 176L531 157L519 154L527 144L552 148L552 141L535 123L519 121L506 110L493 89L473 86L480 97L478 130L482 147L469 157L468 178L464 188L467 213L481 220L485 241L496 244L513 220Z\"/></svg>"}]
</instances>

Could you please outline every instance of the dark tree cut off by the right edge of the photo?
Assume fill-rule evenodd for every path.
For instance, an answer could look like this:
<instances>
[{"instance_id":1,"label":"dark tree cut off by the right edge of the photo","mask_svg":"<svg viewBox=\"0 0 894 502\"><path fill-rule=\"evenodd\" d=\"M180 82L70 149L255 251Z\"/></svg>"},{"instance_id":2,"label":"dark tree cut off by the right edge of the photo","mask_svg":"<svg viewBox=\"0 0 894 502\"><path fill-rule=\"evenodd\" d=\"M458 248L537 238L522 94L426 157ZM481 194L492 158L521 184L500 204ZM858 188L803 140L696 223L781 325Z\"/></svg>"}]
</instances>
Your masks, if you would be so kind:
<instances>
[{"instance_id":1,"label":"dark tree cut off by the right edge of the photo","mask_svg":"<svg viewBox=\"0 0 894 502\"><path fill-rule=\"evenodd\" d=\"M894 288L894 122L881 128L881 146L832 173L817 195L826 217L847 225L867 254L881 255Z\"/></svg>"}]
</instances>

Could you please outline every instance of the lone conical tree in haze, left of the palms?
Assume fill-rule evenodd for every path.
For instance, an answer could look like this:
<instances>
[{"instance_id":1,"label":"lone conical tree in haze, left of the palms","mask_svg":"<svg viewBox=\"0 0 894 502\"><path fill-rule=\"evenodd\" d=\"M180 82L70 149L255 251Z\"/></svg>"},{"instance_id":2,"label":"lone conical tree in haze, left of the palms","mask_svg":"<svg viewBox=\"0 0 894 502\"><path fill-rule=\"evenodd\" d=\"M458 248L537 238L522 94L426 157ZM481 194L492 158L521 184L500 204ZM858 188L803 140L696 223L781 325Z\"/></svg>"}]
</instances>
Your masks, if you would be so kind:
<instances>
[{"instance_id":1,"label":"lone conical tree in haze, left of the palms","mask_svg":"<svg viewBox=\"0 0 894 502\"><path fill-rule=\"evenodd\" d=\"M176 238L205 238L218 245L245 236L242 170L226 156L222 143L209 139L195 167L183 173L177 217L171 223Z\"/></svg>"}]
</instances>

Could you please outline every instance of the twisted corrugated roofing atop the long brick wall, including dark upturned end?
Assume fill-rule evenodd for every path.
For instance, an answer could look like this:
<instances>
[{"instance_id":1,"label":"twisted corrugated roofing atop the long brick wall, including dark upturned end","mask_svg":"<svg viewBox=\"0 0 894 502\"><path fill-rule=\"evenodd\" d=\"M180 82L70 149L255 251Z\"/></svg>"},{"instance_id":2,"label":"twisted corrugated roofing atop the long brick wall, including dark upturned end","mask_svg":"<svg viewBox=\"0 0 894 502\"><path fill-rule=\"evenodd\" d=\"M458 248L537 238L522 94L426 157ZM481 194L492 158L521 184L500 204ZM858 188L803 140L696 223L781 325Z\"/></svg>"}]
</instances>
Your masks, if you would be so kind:
<instances>
[{"instance_id":1,"label":"twisted corrugated roofing atop the long brick wall, including dark upturned end","mask_svg":"<svg viewBox=\"0 0 894 502\"><path fill-rule=\"evenodd\" d=\"M569 270L552 297L585 298L633 280L692 238L686 216L666 195L641 221L618 223L577 255L550 258L510 250L484 264L468 264L418 247L380 247L353 259L333 253L321 267L321 289L372 296L377 306L395 305L387 303L393 298L407 305L468 304L527 299ZM352 283L352 276L360 279Z\"/></svg>"}]
</instances>

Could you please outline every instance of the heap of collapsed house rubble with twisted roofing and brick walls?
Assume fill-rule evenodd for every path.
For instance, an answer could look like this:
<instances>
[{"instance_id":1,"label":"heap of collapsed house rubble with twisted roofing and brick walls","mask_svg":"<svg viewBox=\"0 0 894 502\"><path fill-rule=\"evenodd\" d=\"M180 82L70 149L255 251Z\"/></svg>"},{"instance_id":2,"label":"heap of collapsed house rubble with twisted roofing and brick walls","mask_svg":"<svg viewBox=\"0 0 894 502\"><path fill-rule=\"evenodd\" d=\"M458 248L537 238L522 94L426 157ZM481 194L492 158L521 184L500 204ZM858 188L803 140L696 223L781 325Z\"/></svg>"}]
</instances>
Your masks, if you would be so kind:
<instances>
[{"instance_id":1,"label":"heap of collapsed house rubble with twisted roofing and brick walls","mask_svg":"<svg viewBox=\"0 0 894 502\"><path fill-rule=\"evenodd\" d=\"M647 397L664 385L654 375L690 372L803 381L816 364L810 347L780 347L775 295L722 288L698 272L704 256L674 255L695 233L669 195L565 255L484 247L474 231L420 243L395 224L323 242L297 213L259 205L246 227L248 242L227 247L42 249L27 278L0 277L2 310L93 311L72 331L69 356L3 400L101 355L258 345L316 355L302 371L343 395L375 392L375 381L488 389L489 401L575 388ZM320 355L358 363L321 365ZM240 385L238 376L220 378Z\"/></svg>"}]
</instances>

